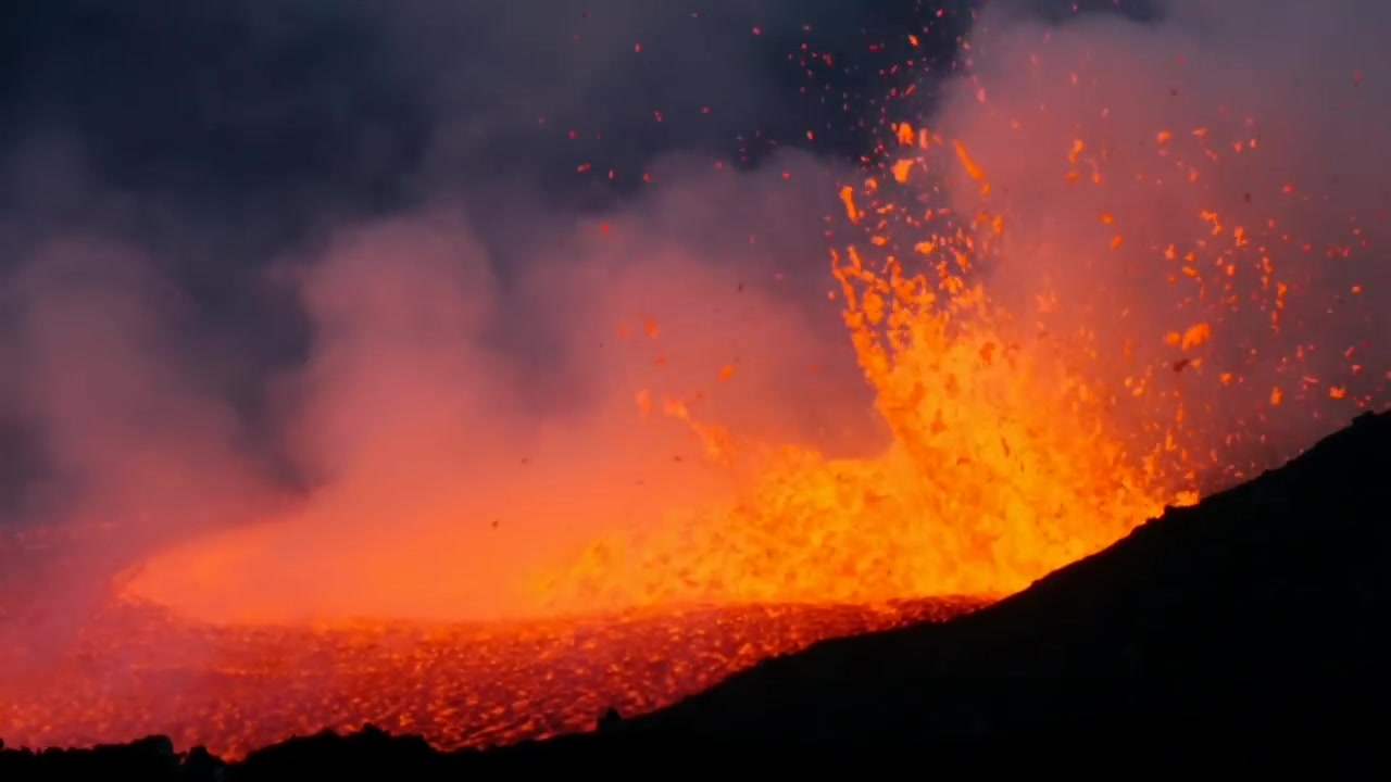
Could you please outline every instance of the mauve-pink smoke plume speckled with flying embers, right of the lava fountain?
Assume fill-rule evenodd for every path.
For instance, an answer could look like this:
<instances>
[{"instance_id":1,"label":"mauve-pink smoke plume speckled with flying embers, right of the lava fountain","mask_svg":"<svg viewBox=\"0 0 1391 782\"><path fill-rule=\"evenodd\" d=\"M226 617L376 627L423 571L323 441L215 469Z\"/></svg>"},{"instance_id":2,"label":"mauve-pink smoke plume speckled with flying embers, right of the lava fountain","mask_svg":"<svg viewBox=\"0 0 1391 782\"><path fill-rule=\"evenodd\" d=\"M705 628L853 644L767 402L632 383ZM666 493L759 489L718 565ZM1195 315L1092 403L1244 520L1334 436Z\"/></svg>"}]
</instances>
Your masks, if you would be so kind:
<instances>
[{"instance_id":1,"label":"mauve-pink smoke plume speckled with flying embers, right of the lava fountain","mask_svg":"<svg viewBox=\"0 0 1391 782\"><path fill-rule=\"evenodd\" d=\"M1106 355L1135 338L1138 360L1117 360L1117 380L1135 365L1203 359L1196 373L1161 372L1157 385L1184 392L1191 423L1209 434L1248 436L1235 447L1209 437L1225 459L1278 462L1356 415L1353 399L1384 404L1391 54L1380 40L1391 10L1362 0L1059 8L989 6L963 53L967 75L947 85L935 117L992 184L982 199L958 175L954 206L1007 216L996 295L1034 312L1035 295L1056 289L1054 333L1110 324L1099 334ZM1071 171L1079 181L1068 182ZM1217 214L1220 235L1203 210ZM1238 228L1251 245L1223 263L1234 264L1239 301L1224 301L1219 282L1181 306L1193 285L1167 281L1180 263L1163 250L1196 250L1203 277L1220 278L1219 250ZM1274 266L1264 292L1262 256ZM1280 282L1289 294L1277 334L1251 294L1269 305ZM1199 321L1214 330L1200 349L1163 344ZM1241 383L1217 387L1224 369ZM1278 409L1269 402L1277 387ZM1331 387L1346 398L1331 399Z\"/></svg>"}]
</instances>

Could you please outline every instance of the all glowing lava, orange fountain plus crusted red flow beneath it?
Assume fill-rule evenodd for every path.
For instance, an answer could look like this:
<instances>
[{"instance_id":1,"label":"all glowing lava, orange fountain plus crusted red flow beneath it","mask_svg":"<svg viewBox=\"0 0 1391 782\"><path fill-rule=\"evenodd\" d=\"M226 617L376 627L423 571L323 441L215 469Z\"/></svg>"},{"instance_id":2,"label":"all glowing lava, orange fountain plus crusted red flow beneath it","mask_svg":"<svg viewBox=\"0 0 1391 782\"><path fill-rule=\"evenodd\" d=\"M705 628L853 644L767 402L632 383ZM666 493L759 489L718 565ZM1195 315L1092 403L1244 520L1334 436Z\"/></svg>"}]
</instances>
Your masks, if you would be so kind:
<instances>
[{"instance_id":1,"label":"all glowing lava, orange fountain plus crusted red flow beneath it","mask_svg":"<svg viewBox=\"0 0 1391 782\"><path fill-rule=\"evenodd\" d=\"M331 519L312 513L192 540L124 573L74 650L8 683L0 729L43 744L160 732L232 756L369 721L444 747L581 731L821 639L970 611L1185 500L1181 452L1118 429L1085 342L1040 340L988 296L976 264L999 224L908 224L915 256L899 259L857 200L887 189L843 193L871 235L832 253L892 433L878 456L740 437L636 390L633 416L686 427L725 498L579 547L504 534L463 550L387 527L334 558ZM402 596L421 612L396 615Z\"/></svg>"}]
</instances>

